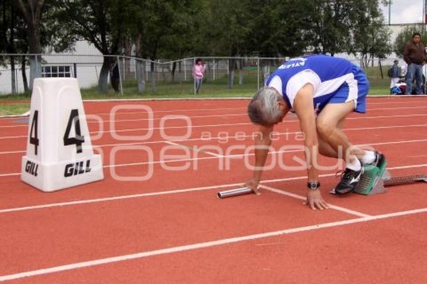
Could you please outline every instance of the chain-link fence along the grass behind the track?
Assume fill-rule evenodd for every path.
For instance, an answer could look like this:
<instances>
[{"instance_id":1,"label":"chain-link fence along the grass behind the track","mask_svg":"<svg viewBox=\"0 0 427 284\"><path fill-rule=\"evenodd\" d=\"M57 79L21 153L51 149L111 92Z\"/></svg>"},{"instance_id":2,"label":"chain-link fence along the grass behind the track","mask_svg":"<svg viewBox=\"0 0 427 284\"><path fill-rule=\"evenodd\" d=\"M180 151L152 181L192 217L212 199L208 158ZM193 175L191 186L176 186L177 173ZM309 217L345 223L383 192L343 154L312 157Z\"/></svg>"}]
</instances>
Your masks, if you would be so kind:
<instances>
[{"instance_id":1,"label":"chain-link fence along the grass behind the track","mask_svg":"<svg viewBox=\"0 0 427 284\"><path fill-rule=\"evenodd\" d=\"M0 94L23 93L31 90L38 77L75 77L84 92L117 95L195 94L192 70L197 58L180 60L144 60L126 56L102 55L0 55ZM200 57L205 72L199 94L240 95L255 92L265 79L288 58ZM387 88L388 69L394 58L363 62L371 88ZM399 59L404 76L405 64ZM425 68L424 68L425 69ZM425 73L425 70L424 70Z\"/></svg>"}]
</instances>

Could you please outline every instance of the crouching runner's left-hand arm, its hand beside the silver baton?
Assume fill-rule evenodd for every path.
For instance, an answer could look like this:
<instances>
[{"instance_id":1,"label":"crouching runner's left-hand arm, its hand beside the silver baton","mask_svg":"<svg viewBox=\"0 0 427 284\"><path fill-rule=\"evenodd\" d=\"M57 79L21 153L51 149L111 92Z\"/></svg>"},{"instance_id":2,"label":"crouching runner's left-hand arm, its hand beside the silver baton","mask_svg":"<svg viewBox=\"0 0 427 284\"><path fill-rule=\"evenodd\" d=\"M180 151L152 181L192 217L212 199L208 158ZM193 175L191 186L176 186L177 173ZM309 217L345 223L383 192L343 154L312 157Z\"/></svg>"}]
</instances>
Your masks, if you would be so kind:
<instances>
[{"instance_id":1,"label":"crouching runner's left-hand arm, its hand beside the silver baton","mask_svg":"<svg viewBox=\"0 0 427 284\"><path fill-rule=\"evenodd\" d=\"M271 132L273 126L260 126L258 135L255 137L255 170L250 181L246 183L256 194L259 194L258 184L261 180L265 160L267 160L268 149L271 145Z\"/></svg>"}]
</instances>

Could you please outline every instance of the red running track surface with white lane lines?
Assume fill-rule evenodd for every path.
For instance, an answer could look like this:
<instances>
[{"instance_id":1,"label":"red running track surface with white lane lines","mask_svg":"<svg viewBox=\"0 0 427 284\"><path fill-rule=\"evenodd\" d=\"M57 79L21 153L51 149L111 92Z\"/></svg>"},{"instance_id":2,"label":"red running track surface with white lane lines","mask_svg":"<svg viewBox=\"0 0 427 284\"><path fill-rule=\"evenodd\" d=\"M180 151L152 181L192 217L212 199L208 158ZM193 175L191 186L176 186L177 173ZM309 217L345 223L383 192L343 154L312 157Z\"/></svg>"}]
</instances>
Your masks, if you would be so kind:
<instances>
[{"instance_id":1,"label":"red running track surface with white lane lines","mask_svg":"<svg viewBox=\"0 0 427 284\"><path fill-rule=\"evenodd\" d=\"M329 210L303 206L305 171L283 171L278 163L265 172L261 196L219 200L217 191L238 187L251 174L245 159L251 163L253 155L245 151L256 127L245 115L247 100L124 103L151 107L153 124L146 112L131 109L109 121L117 104L85 102L86 113L105 122L100 133L98 123L89 123L91 135L100 136L93 144L103 156L105 179L54 193L20 181L27 123L0 119L0 281L424 283L425 185L332 196L336 162L322 158L319 164L329 166L321 173ZM353 143L384 152L393 175L426 173L427 100L370 98L368 107L344 126ZM161 129L165 115L181 118L163 121ZM188 137L168 141L168 135L187 134L182 115L190 117ZM118 140L111 122L116 134L153 133L144 141ZM292 158L303 153L282 148L301 144L297 121L289 117L276 130L268 162L297 166ZM113 160L120 145L146 146L153 159L128 149ZM161 157L165 147L173 161ZM176 171L180 166L188 169ZM144 182L113 178L150 169Z\"/></svg>"}]
</instances>

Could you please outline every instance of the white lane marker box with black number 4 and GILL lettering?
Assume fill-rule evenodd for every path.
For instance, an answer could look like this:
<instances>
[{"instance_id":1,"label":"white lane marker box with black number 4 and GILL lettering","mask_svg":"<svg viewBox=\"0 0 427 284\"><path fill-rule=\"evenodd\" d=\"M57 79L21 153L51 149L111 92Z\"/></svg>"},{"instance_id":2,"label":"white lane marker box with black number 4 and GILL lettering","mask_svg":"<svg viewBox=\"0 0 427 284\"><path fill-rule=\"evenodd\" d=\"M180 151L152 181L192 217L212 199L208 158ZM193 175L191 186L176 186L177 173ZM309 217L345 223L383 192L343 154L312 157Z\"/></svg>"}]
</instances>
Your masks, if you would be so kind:
<instances>
[{"instance_id":1,"label":"white lane marker box with black number 4 and GILL lettering","mask_svg":"<svg viewBox=\"0 0 427 284\"><path fill-rule=\"evenodd\" d=\"M50 192L101 179L77 79L35 79L21 180Z\"/></svg>"}]
</instances>

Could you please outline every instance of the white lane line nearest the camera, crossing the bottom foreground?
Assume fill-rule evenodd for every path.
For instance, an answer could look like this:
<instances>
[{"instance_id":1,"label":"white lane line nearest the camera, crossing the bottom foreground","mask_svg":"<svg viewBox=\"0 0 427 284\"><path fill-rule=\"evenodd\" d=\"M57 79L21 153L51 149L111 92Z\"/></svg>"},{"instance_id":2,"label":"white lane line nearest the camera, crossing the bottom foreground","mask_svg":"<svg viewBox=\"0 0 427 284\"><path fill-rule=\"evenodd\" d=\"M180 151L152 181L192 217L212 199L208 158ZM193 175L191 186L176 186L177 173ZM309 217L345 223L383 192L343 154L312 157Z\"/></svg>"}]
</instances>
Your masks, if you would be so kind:
<instances>
[{"instance_id":1,"label":"white lane line nearest the camera, crossing the bottom foreground","mask_svg":"<svg viewBox=\"0 0 427 284\"><path fill-rule=\"evenodd\" d=\"M162 248L162 249L156 249L156 250L142 251L142 252L137 252L132 254L124 254L124 255L119 255L114 257L99 258L99 259L94 259L89 261L75 262L75 263L70 263L65 265L53 266L49 268L42 268L42 269L25 271L25 272L20 272L15 274L3 275L3 276L0 276L0 281L15 280L23 277L44 275L44 274L67 271L72 269L91 267L95 265L102 265L102 264L108 264L108 263L114 263L114 262L120 262L120 261L127 261L131 259L150 257L154 255L170 254L170 253L176 253L181 251L189 251L189 250L201 249L201 248L207 248L207 247L213 247L213 246L227 245L227 244L238 243L243 241L268 238L273 236L281 236L281 235L287 235L287 234L293 234L293 233L299 233L299 232L308 232L308 231L314 231L314 230L319 230L324 228L332 228L332 227L338 227L338 226L344 226L344 225L350 225L350 224L356 224L356 223L362 223L362 222L368 222L368 221L374 221L374 220L383 220L383 219L399 217L399 216L421 214L425 212L427 212L427 208L420 208L415 210L400 211L400 212L394 212L394 213L388 213L388 214L382 214L382 215L366 216L366 217L349 219L344 221L328 222L328 223L321 223L321 224L315 224L315 225L309 225L309 226L303 226L303 227L296 227L291 229L270 231L270 232L246 235L241 237L233 237L233 238L180 245L180 246L168 247L168 248Z\"/></svg>"}]
</instances>

